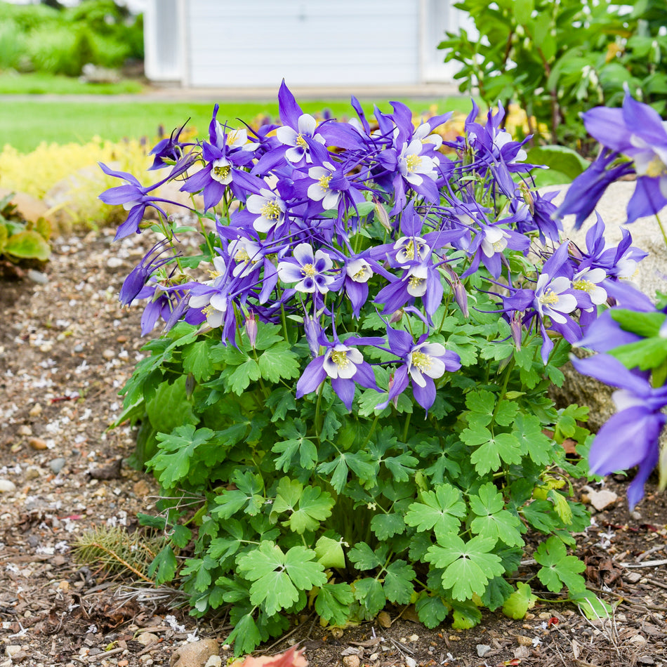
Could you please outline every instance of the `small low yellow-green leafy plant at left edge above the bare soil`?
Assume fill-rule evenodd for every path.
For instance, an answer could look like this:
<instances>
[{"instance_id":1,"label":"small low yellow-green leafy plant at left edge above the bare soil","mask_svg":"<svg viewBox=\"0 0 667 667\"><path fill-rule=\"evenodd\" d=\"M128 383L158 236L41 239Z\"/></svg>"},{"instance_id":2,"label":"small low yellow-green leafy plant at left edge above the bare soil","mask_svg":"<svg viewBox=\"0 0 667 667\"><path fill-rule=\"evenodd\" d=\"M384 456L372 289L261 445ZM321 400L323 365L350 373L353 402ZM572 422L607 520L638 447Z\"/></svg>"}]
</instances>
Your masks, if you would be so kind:
<instances>
[{"instance_id":1,"label":"small low yellow-green leafy plant at left edge above the bare soil","mask_svg":"<svg viewBox=\"0 0 667 667\"><path fill-rule=\"evenodd\" d=\"M18 263L25 260L45 262L51 256L51 225L44 218L26 222L11 203L12 194L0 199L0 257Z\"/></svg>"}]
</instances>

